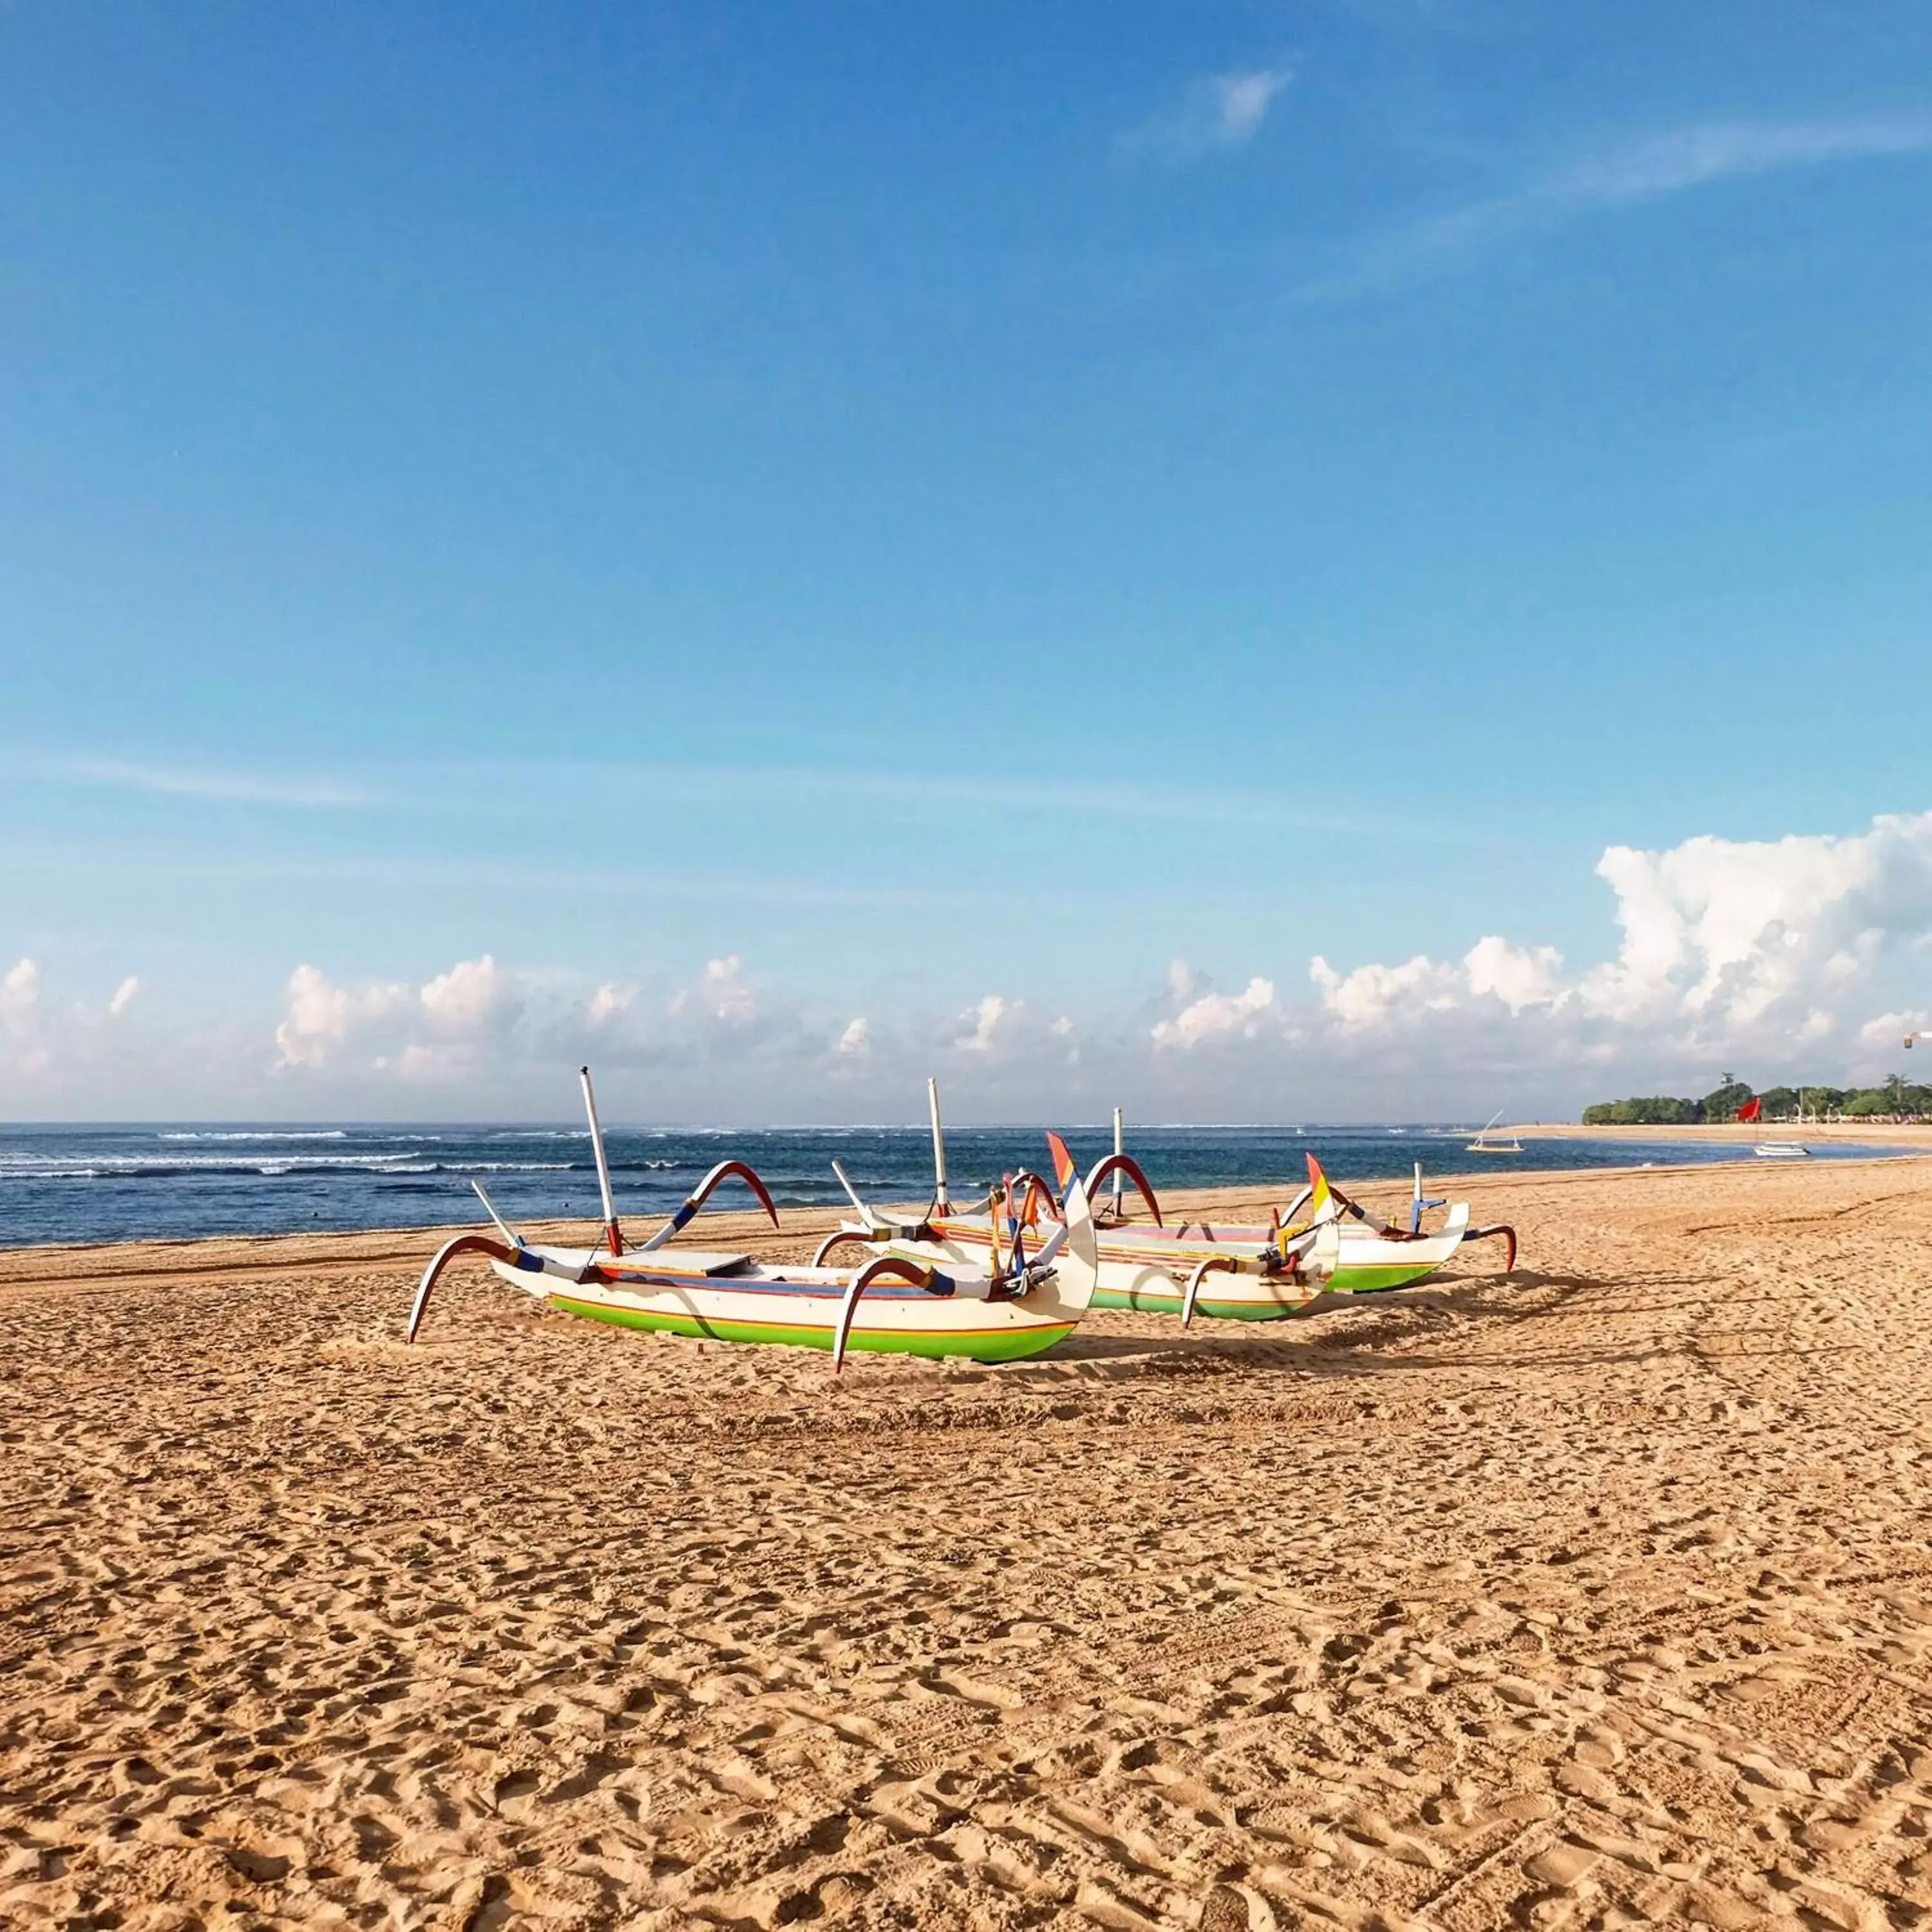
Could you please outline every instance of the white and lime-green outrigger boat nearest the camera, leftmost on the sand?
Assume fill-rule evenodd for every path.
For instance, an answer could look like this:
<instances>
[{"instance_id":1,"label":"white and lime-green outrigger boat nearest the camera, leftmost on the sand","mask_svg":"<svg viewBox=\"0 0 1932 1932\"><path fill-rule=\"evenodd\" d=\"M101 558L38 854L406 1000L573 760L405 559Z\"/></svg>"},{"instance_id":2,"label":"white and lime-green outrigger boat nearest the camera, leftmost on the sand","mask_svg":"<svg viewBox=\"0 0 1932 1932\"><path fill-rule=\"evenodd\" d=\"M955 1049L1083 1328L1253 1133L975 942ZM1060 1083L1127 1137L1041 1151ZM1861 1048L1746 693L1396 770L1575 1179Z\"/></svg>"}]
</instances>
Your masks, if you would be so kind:
<instances>
[{"instance_id":1,"label":"white and lime-green outrigger boat nearest the camera, leftmost on the sand","mask_svg":"<svg viewBox=\"0 0 1932 1932\"><path fill-rule=\"evenodd\" d=\"M1094 1217L1059 1134L1047 1134L1047 1148L1065 1194L1065 1215L1032 1258L1024 1242L1014 1242L991 1267L941 1265L898 1254L875 1256L860 1267L767 1267L748 1254L668 1246L726 1179L744 1180L777 1227L771 1194L744 1161L719 1161L655 1235L626 1246L611 1200L611 1169L587 1066L580 1068L580 1080L603 1194L603 1244L551 1248L524 1240L471 1182L500 1238L458 1235L437 1250L410 1308L412 1343L439 1277L469 1254L483 1256L502 1281L564 1314L711 1341L829 1349L835 1374L850 1350L958 1354L974 1362L1039 1354L1072 1333L1094 1298Z\"/></svg>"}]
</instances>

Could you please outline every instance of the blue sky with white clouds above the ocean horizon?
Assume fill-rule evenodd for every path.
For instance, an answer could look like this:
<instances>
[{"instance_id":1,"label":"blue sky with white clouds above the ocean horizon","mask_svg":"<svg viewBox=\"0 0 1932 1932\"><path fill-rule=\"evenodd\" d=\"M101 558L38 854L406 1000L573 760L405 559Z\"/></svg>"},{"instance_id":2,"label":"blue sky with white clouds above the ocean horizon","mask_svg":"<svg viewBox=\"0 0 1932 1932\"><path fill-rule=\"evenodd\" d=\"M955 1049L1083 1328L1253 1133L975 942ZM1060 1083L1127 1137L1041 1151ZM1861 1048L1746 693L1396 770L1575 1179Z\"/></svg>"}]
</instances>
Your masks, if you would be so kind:
<instances>
[{"instance_id":1,"label":"blue sky with white clouds above the ocean horizon","mask_svg":"<svg viewBox=\"0 0 1932 1932\"><path fill-rule=\"evenodd\" d=\"M6 12L0 1115L1882 1070L1926 75L1888 4Z\"/></svg>"}]
</instances>

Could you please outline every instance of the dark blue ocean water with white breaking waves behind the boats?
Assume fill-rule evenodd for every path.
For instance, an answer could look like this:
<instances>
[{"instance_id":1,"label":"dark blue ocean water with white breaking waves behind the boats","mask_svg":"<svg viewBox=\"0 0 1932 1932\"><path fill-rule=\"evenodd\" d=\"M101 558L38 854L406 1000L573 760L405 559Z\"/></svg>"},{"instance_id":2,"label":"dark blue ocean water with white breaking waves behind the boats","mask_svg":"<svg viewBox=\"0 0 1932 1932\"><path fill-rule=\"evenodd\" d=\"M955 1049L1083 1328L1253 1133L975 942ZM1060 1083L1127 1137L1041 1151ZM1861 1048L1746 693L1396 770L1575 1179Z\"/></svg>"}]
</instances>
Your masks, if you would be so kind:
<instances>
[{"instance_id":1,"label":"dark blue ocean water with white breaking waves behind the boats","mask_svg":"<svg viewBox=\"0 0 1932 1932\"><path fill-rule=\"evenodd\" d=\"M1134 1126L1128 1151L1155 1190L1267 1186L1283 1202L1318 1153L1341 1182L1408 1175L1435 1182L1470 1173L1634 1167L1642 1161L1752 1161L1716 1142L1546 1140L1522 1153L1468 1151L1468 1126ZM1113 1144L1111 1128L1070 1128L1082 1165ZM925 1128L609 1128L618 1213L665 1215L721 1159L750 1161L784 1206L838 1202L831 1163L867 1200L920 1202L931 1192ZM1814 1157L1897 1151L1820 1142ZM1036 1128L949 1128L954 1198L1016 1167L1045 1171ZM276 1235L303 1229L435 1227L479 1221L475 1177L512 1221L597 1219L589 1134L572 1126L141 1124L0 1126L0 1248L58 1240ZM713 1200L752 1206L740 1182Z\"/></svg>"}]
</instances>

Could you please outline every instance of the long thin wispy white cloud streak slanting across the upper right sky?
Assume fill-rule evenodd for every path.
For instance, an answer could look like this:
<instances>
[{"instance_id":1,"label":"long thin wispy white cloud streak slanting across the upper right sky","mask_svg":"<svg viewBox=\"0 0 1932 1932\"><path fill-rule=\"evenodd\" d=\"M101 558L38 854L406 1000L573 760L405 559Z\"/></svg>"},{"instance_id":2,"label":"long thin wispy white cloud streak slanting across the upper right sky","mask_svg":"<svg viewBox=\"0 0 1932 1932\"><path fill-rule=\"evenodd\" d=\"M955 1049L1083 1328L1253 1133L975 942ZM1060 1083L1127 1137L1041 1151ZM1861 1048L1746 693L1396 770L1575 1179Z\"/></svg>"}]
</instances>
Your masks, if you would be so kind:
<instances>
[{"instance_id":1,"label":"long thin wispy white cloud streak slanting across the upper right sky","mask_svg":"<svg viewBox=\"0 0 1932 1932\"><path fill-rule=\"evenodd\" d=\"M1349 267L1310 282L1300 294L1318 301L1383 296L1455 274L1505 242L1548 234L1605 209L1833 160L1926 153L1932 153L1932 116L1673 128L1586 156L1513 193L1470 201L1379 236Z\"/></svg>"}]
</instances>

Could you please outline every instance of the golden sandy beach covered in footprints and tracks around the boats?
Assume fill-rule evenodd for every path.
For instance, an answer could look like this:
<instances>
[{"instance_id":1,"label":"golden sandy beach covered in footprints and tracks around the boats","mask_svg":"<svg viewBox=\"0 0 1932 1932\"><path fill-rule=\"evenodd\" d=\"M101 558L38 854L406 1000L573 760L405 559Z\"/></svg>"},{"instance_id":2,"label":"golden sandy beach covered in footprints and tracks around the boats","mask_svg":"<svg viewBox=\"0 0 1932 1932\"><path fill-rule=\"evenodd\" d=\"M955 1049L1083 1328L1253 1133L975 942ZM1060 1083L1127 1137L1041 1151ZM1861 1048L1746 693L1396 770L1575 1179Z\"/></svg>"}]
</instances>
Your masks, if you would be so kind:
<instances>
[{"instance_id":1,"label":"golden sandy beach covered in footprints and tracks around the boats","mask_svg":"<svg viewBox=\"0 0 1932 1932\"><path fill-rule=\"evenodd\" d=\"M1511 1281L837 1383L0 1254L0 1924L1932 1922L1932 1167L1472 1198Z\"/></svg>"}]
</instances>

